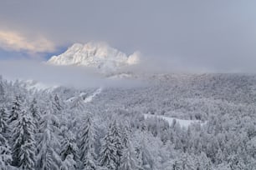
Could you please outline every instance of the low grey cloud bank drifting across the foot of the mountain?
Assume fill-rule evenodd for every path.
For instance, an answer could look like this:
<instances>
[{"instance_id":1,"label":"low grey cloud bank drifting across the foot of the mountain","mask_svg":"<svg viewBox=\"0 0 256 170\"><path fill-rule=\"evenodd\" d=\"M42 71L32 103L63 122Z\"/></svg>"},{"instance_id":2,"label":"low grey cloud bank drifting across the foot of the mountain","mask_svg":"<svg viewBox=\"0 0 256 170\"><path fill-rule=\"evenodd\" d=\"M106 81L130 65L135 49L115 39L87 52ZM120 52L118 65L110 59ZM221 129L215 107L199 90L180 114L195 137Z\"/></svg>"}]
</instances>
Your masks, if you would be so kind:
<instances>
[{"instance_id":1,"label":"low grey cloud bank drifting across the foot of the mountain","mask_svg":"<svg viewBox=\"0 0 256 170\"><path fill-rule=\"evenodd\" d=\"M145 83L137 79L109 78L89 67L53 66L31 60L0 62L0 75L8 80L34 80L48 86L138 87Z\"/></svg>"}]
</instances>

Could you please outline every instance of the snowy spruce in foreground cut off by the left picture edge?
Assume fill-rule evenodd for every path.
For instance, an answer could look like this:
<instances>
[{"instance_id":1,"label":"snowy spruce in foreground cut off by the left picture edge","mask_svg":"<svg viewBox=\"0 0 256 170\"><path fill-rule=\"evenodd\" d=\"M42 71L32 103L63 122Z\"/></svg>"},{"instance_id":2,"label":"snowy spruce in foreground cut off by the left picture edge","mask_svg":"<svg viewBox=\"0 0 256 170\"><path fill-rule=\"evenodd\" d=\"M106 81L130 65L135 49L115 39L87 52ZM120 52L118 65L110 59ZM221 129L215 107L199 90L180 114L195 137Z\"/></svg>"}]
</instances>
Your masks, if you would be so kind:
<instances>
[{"instance_id":1,"label":"snowy spruce in foreground cut off by the left picture edge","mask_svg":"<svg viewBox=\"0 0 256 170\"><path fill-rule=\"evenodd\" d=\"M8 170L12 163L11 148L8 145L7 136L7 115L4 107L0 108L0 168Z\"/></svg>"}]
</instances>

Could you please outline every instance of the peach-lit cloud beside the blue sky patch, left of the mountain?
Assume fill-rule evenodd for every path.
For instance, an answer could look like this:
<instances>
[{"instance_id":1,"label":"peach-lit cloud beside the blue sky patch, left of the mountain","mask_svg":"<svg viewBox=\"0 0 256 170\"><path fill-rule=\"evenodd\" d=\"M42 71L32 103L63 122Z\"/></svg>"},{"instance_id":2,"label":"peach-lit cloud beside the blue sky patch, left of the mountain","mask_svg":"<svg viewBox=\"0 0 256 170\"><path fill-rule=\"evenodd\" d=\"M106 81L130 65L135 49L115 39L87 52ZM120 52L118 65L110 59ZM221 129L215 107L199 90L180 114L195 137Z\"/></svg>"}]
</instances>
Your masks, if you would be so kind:
<instances>
[{"instance_id":1,"label":"peach-lit cloud beside the blue sky patch, left of the mountain","mask_svg":"<svg viewBox=\"0 0 256 170\"><path fill-rule=\"evenodd\" d=\"M26 37L19 32L0 30L0 47L8 51L16 52L54 52L54 43L43 36L34 38Z\"/></svg>"}]
</instances>

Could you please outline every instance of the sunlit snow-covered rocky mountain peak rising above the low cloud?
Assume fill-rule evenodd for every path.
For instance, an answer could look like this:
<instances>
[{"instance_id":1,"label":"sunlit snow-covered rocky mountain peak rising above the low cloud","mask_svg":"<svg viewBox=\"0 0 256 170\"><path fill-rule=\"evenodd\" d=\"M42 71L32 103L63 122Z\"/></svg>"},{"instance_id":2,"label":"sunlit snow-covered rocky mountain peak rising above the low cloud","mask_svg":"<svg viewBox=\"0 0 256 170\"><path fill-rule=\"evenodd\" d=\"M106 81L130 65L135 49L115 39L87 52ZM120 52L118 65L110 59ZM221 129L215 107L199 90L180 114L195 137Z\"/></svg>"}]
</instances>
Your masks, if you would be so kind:
<instances>
[{"instance_id":1,"label":"sunlit snow-covered rocky mountain peak rising above the low cloud","mask_svg":"<svg viewBox=\"0 0 256 170\"><path fill-rule=\"evenodd\" d=\"M121 67L137 64L139 52L127 56L105 42L74 43L59 56L49 59L49 64L96 67L101 71L116 71Z\"/></svg>"}]
</instances>

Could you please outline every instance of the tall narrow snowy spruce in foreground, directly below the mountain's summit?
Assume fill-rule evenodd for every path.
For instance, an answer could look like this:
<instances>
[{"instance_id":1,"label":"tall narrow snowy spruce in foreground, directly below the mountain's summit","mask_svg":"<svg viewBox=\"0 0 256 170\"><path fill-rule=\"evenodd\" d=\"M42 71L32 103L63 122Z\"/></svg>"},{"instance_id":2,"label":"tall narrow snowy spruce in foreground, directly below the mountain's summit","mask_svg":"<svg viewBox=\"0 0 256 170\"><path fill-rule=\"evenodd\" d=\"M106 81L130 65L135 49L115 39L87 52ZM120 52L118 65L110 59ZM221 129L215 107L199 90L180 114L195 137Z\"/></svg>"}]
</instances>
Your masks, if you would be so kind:
<instances>
[{"instance_id":1,"label":"tall narrow snowy spruce in foreground, directly below the mountain's summit","mask_svg":"<svg viewBox=\"0 0 256 170\"><path fill-rule=\"evenodd\" d=\"M80 161L82 163L81 167L86 170L97 169L95 161L95 127L91 117L92 115L89 114L85 118L79 137Z\"/></svg>"}]
</instances>

